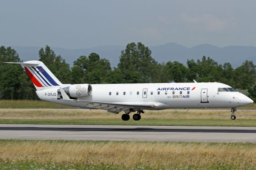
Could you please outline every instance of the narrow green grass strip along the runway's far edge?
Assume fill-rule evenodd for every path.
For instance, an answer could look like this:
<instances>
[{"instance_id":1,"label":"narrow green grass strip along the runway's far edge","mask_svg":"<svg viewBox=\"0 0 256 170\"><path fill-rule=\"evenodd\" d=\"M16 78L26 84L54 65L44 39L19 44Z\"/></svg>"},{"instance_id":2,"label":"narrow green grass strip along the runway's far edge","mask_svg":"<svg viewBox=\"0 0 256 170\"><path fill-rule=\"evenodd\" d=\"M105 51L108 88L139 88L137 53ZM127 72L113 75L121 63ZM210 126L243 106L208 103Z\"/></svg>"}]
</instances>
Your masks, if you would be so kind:
<instances>
[{"instance_id":1,"label":"narrow green grass strip along the runway's far edge","mask_svg":"<svg viewBox=\"0 0 256 170\"><path fill-rule=\"evenodd\" d=\"M42 124L42 125L168 125L168 126L241 126L241 127L255 127L255 120L235 120L227 119L175 119L175 120L155 120L144 119L134 121L130 118L129 121L122 121L122 119L92 119L92 120L0 120L0 124Z\"/></svg>"}]
</instances>

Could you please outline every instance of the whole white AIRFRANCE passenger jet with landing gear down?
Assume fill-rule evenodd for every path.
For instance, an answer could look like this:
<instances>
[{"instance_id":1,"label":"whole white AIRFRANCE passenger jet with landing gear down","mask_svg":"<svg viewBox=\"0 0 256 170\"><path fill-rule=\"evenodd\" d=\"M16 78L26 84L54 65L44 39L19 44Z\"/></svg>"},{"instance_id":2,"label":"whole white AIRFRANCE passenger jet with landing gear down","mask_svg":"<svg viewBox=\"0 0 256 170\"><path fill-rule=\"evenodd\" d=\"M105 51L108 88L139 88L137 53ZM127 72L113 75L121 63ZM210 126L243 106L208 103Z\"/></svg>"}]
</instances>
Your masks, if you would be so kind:
<instances>
[{"instance_id":1,"label":"whole white AIRFRANCE passenger jet with landing gear down","mask_svg":"<svg viewBox=\"0 0 256 170\"><path fill-rule=\"evenodd\" d=\"M14 63L14 62L6 62ZM41 61L26 61L24 67L36 87L39 99L84 109L102 109L118 114L123 121L141 119L144 110L230 108L235 120L236 107L253 101L223 83L134 83L62 84Z\"/></svg>"}]
</instances>

